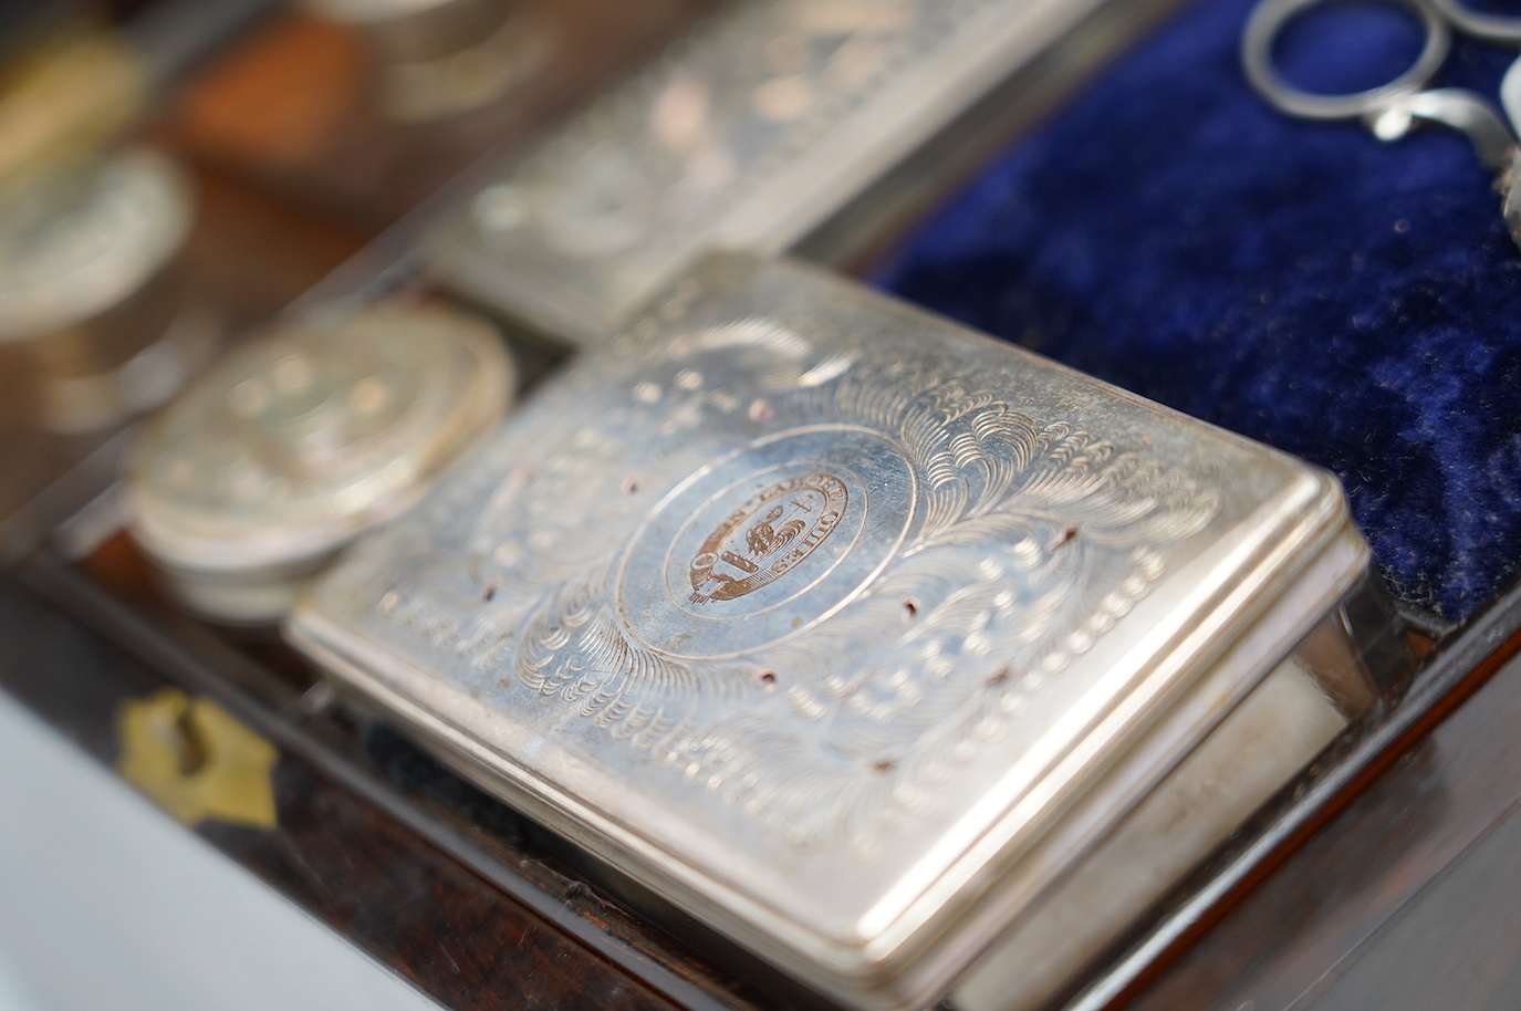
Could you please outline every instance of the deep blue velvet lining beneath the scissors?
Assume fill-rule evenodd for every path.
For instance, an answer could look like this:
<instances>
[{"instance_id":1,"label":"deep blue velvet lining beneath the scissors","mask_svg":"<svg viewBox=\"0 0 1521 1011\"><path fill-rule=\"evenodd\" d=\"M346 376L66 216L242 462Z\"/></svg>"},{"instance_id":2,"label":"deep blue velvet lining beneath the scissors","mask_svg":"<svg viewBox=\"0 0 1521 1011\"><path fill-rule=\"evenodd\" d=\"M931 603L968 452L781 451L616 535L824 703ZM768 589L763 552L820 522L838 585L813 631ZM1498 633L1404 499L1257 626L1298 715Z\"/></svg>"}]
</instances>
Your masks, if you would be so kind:
<instances>
[{"instance_id":1,"label":"deep blue velvet lining beneath the scissors","mask_svg":"<svg viewBox=\"0 0 1521 1011\"><path fill-rule=\"evenodd\" d=\"M1259 99L1249 12L1186 9L876 281L1329 467L1396 593L1462 619L1521 569L1521 252L1462 135L1383 143ZM1387 79L1421 41L1390 17L1297 21L1282 64ZM1492 97L1515 55L1459 41L1439 84Z\"/></svg>"}]
</instances>

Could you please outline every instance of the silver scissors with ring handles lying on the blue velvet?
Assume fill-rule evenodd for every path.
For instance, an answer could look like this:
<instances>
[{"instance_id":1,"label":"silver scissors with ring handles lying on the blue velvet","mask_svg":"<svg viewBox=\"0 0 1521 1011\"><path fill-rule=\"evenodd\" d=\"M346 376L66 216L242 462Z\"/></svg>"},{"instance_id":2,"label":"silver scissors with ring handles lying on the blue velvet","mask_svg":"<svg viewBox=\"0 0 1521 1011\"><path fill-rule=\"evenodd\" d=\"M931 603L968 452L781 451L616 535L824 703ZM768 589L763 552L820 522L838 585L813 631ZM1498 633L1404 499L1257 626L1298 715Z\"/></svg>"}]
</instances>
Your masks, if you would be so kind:
<instances>
[{"instance_id":1,"label":"silver scissors with ring handles lying on the blue velvet","mask_svg":"<svg viewBox=\"0 0 1521 1011\"><path fill-rule=\"evenodd\" d=\"M1311 120L1363 120L1380 140L1399 140L1418 123L1442 123L1462 131L1480 164L1494 173L1503 198L1510 239L1521 246L1521 58L1500 82L1500 108L1466 88L1427 88L1446 61L1453 32L1492 43L1521 46L1521 17L1484 14L1462 0L1390 0L1421 18L1425 44L1421 55L1393 81L1351 94L1320 94L1288 84L1273 62L1273 46L1284 26L1311 8L1337 0L1262 0L1252 11L1241 36L1246 78L1272 105Z\"/></svg>"}]
</instances>

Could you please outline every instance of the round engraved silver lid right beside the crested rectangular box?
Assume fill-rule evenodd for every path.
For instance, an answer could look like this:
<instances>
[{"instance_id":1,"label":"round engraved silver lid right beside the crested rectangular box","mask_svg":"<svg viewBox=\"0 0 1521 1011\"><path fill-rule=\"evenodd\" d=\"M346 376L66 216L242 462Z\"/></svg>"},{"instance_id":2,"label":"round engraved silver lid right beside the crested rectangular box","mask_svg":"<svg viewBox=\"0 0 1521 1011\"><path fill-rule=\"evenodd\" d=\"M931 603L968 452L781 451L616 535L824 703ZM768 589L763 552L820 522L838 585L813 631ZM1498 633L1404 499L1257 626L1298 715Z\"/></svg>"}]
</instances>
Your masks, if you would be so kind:
<instances>
[{"instance_id":1,"label":"round engraved silver lid right beside the crested rectangular box","mask_svg":"<svg viewBox=\"0 0 1521 1011\"><path fill-rule=\"evenodd\" d=\"M513 366L464 313L370 307L230 354L138 433L132 535L160 563L257 572L321 559L411 505L506 407Z\"/></svg>"}]
</instances>

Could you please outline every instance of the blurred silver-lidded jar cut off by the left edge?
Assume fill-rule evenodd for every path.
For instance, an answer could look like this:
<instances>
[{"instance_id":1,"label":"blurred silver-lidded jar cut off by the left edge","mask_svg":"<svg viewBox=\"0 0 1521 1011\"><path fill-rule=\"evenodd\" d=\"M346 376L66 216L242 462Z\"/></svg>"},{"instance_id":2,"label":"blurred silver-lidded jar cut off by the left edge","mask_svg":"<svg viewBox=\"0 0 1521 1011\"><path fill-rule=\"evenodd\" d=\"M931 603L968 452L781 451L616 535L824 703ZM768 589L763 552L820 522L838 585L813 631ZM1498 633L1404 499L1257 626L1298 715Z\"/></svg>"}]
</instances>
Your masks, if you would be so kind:
<instances>
[{"instance_id":1,"label":"blurred silver-lidded jar cut off by the left edge","mask_svg":"<svg viewBox=\"0 0 1521 1011\"><path fill-rule=\"evenodd\" d=\"M167 401L219 336L186 296L195 202L163 155L70 166L0 201L0 369L29 424L91 432Z\"/></svg>"}]
</instances>

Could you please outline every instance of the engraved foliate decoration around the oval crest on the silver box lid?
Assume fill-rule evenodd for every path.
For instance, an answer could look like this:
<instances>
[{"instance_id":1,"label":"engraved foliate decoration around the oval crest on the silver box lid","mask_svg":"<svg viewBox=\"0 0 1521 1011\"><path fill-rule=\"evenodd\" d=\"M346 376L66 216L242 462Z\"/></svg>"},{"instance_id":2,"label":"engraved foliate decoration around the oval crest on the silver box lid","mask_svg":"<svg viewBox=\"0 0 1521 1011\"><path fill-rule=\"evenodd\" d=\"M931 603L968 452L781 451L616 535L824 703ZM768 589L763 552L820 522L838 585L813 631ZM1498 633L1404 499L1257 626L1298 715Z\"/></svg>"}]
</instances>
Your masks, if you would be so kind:
<instances>
[{"instance_id":1,"label":"engraved foliate decoration around the oval crest on the silver box lid","mask_svg":"<svg viewBox=\"0 0 1521 1011\"><path fill-rule=\"evenodd\" d=\"M461 491L485 502L462 617L389 613L797 847L870 856L1025 733L1218 509L954 366L759 321L660 348L584 380L613 391L596 418L557 432L546 407L493 490Z\"/></svg>"}]
</instances>

